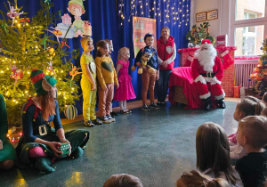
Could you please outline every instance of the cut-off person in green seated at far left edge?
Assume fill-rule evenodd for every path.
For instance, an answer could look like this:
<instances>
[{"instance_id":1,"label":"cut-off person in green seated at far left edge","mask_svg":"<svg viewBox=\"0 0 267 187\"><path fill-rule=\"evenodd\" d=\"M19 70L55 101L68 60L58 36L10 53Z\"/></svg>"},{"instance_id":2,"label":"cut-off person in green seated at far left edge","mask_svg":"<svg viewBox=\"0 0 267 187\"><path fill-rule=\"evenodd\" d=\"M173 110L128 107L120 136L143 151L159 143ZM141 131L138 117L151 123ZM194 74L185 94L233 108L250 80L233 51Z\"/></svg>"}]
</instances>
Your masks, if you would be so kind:
<instances>
[{"instance_id":1,"label":"cut-off person in green seated at far left edge","mask_svg":"<svg viewBox=\"0 0 267 187\"><path fill-rule=\"evenodd\" d=\"M8 129L4 97L0 93L0 170L11 169L16 159L16 151L6 137Z\"/></svg>"}]
</instances>

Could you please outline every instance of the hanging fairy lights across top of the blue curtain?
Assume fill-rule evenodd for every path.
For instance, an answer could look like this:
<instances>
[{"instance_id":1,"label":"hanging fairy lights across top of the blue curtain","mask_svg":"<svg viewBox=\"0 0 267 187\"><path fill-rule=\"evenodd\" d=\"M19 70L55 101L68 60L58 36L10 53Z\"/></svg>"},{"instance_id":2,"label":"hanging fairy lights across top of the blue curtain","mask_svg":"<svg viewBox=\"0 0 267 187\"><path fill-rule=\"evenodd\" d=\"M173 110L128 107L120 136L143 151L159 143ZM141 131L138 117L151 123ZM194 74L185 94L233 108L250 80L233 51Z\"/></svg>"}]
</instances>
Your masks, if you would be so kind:
<instances>
[{"instance_id":1,"label":"hanging fairy lights across top of the blue curtain","mask_svg":"<svg viewBox=\"0 0 267 187\"><path fill-rule=\"evenodd\" d=\"M126 0L118 1L118 15L120 25L125 22ZM174 24L181 27L189 25L190 0L130 0L130 13L127 15L128 22L133 16L157 19L165 24Z\"/></svg>"}]
</instances>

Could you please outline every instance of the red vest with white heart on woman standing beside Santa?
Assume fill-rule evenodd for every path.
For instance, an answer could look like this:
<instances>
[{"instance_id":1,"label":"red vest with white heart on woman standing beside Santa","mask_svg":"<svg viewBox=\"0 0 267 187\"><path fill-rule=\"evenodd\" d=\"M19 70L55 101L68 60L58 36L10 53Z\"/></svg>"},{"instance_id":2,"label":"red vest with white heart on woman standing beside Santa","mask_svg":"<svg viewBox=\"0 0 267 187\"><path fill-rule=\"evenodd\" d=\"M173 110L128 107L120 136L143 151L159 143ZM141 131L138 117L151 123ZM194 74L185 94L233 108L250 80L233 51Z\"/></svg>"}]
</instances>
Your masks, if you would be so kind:
<instances>
[{"instance_id":1,"label":"red vest with white heart on woman standing beside Santa","mask_svg":"<svg viewBox=\"0 0 267 187\"><path fill-rule=\"evenodd\" d=\"M169 59L173 53L174 53L174 37L170 36L166 43L164 43L163 38L159 37L157 41L157 53L158 57L162 61L166 61ZM174 61L171 61L166 68L163 68L161 65L159 65L159 69L163 70L172 70L174 69Z\"/></svg>"}]
</instances>

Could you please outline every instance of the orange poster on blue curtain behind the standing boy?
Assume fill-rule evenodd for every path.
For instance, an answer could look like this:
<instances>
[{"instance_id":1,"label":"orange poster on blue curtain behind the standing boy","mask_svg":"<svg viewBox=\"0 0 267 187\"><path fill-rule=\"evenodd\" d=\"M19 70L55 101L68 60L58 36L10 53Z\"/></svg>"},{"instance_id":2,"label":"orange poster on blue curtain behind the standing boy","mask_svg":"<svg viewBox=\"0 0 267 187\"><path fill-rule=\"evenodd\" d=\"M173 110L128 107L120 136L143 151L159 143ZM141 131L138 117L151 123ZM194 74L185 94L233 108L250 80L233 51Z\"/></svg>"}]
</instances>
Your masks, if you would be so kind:
<instances>
[{"instance_id":1,"label":"orange poster on blue curtain behind the standing boy","mask_svg":"<svg viewBox=\"0 0 267 187\"><path fill-rule=\"evenodd\" d=\"M147 33L154 35L154 45L156 48L156 19L133 17L133 41L134 41L134 58L142 47L145 47L144 36Z\"/></svg>"}]
</instances>

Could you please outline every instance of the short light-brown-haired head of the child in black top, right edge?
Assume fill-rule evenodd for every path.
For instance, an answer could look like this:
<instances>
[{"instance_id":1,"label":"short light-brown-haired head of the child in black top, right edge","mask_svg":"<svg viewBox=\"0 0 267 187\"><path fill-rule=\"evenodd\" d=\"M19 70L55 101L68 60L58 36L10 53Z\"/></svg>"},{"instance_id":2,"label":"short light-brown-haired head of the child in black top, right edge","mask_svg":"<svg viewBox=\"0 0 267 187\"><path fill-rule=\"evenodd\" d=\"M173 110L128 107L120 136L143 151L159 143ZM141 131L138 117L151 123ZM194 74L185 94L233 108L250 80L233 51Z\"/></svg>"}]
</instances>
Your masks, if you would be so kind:
<instances>
[{"instance_id":1,"label":"short light-brown-haired head of the child in black top, right edge","mask_svg":"<svg viewBox=\"0 0 267 187\"><path fill-rule=\"evenodd\" d=\"M250 116L239 121L242 135L247 136L248 142L253 148L263 148L267 145L267 118L263 116Z\"/></svg>"}]
</instances>

